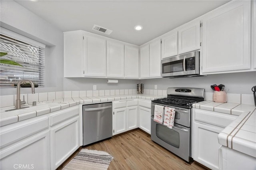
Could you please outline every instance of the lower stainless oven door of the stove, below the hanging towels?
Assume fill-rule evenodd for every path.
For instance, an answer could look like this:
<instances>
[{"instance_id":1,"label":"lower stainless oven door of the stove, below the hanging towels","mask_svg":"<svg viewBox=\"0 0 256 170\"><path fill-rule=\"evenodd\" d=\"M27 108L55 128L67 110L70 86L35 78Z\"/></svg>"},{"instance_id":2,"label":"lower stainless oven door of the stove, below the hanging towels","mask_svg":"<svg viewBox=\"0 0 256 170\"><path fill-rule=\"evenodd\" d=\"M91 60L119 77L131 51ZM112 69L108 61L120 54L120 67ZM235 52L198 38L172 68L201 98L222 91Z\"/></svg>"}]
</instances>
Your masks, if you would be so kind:
<instances>
[{"instance_id":1,"label":"lower stainless oven door of the stove, below the hanging towels","mask_svg":"<svg viewBox=\"0 0 256 170\"><path fill-rule=\"evenodd\" d=\"M190 128L174 123L171 129L151 117L151 140L190 162Z\"/></svg>"}]
</instances>

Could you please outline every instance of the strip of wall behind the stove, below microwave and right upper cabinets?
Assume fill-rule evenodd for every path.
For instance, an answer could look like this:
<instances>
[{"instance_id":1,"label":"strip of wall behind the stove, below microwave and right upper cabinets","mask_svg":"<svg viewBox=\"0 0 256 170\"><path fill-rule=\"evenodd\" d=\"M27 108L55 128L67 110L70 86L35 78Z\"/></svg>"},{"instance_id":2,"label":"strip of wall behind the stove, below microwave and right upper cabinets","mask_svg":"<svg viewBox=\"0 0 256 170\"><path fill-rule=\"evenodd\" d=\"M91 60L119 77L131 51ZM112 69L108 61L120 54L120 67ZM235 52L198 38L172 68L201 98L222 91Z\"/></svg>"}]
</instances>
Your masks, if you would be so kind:
<instances>
[{"instance_id":1,"label":"strip of wall behind the stove, below microwave and right upper cabinets","mask_svg":"<svg viewBox=\"0 0 256 170\"><path fill-rule=\"evenodd\" d=\"M256 72L215 74L203 77L184 77L184 78L159 78L141 80L144 89L166 90L168 87L197 87L204 88L206 92L213 92L210 85L223 84L229 91L227 93L252 94L252 86L256 85Z\"/></svg>"}]
</instances>

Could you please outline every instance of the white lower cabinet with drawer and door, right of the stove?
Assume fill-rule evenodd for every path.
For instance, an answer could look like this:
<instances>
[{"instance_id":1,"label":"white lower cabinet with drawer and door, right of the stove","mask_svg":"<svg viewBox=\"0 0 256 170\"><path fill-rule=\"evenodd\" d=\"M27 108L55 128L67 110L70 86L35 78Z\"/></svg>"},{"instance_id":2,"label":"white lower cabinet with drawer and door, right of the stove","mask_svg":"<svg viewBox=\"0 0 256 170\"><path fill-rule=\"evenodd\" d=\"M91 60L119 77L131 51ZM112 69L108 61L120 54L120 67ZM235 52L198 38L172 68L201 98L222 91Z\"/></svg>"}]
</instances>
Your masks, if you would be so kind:
<instances>
[{"instance_id":1,"label":"white lower cabinet with drawer and door, right of the stove","mask_svg":"<svg viewBox=\"0 0 256 170\"><path fill-rule=\"evenodd\" d=\"M201 109L192 112L192 157L204 166L219 169L218 134L237 116Z\"/></svg>"}]
</instances>

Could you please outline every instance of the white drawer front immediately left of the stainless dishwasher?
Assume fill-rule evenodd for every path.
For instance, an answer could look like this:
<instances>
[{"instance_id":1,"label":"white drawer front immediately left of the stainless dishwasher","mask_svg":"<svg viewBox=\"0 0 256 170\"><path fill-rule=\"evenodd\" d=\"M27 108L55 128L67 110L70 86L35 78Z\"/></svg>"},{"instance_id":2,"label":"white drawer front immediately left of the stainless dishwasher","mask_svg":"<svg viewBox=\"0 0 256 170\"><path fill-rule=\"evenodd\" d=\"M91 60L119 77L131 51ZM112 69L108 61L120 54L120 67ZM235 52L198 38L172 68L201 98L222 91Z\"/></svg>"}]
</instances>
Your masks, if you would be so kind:
<instances>
[{"instance_id":1,"label":"white drawer front immediately left of the stainless dishwasher","mask_svg":"<svg viewBox=\"0 0 256 170\"><path fill-rule=\"evenodd\" d=\"M54 126L76 115L79 115L79 106L65 109L65 111L58 111L55 115L50 116L50 126Z\"/></svg>"}]
</instances>

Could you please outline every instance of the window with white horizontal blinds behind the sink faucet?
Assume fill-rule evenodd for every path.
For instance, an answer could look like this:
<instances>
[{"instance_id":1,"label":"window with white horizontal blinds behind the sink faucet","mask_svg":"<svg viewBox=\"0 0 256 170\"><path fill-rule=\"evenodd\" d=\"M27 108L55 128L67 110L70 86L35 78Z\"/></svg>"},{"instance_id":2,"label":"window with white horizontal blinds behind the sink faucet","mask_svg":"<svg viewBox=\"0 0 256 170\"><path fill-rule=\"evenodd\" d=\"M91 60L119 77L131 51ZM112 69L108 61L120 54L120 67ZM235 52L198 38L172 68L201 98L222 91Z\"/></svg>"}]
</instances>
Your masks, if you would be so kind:
<instances>
[{"instance_id":1,"label":"window with white horizontal blinds behind the sink faucet","mask_svg":"<svg viewBox=\"0 0 256 170\"><path fill-rule=\"evenodd\" d=\"M45 45L4 28L0 32L0 87L15 87L22 79L44 87Z\"/></svg>"}]
</instances>

